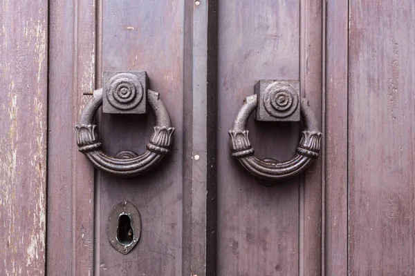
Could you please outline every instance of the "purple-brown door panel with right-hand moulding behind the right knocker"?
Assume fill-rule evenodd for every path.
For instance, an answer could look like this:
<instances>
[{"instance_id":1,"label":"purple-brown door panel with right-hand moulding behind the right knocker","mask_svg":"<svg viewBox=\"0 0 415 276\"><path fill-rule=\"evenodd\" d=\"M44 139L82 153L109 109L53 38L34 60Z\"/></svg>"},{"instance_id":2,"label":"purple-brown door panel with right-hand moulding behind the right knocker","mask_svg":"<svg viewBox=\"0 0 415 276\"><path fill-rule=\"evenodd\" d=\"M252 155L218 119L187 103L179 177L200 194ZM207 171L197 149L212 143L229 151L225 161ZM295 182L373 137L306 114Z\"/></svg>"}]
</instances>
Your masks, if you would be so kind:
<instances>
[{"instance_id":1,"label":"purple-brown door panel with right-hand moulding behind the right knocker","mask_svg":"<svg viewBox=\"0 0 415 276\"><path fill-rule=\"evenodd\" d=\"M321 118L322 1L219 2L219 275L315 275L321 270L321 161L273 188L232 159L228 130L259 79L299 79ZM300 39L301 34L301 39ZM260 157L291 159L298 124L250 119Z\"/></svg>"}]
</instances>

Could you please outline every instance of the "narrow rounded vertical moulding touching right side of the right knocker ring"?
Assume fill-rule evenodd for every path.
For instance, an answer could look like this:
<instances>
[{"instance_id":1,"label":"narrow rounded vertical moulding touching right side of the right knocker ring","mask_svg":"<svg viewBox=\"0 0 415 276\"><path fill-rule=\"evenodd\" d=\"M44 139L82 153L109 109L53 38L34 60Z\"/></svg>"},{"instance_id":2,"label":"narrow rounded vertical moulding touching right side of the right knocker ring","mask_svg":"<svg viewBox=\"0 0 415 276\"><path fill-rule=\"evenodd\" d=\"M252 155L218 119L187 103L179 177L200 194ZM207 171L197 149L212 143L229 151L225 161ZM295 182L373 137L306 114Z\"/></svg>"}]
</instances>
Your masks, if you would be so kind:
<instances>
[{"instance_id":1,"label":"narrow rounded vertical moulding touching right side of the right knocker ring","mask_svg":"<svg viewBox=\"0 0 415 276\"><path fill-rule=\"evenodd\" d=\"M306 97L322 130L322 0L300 3L301 97ZM299 187L299 275L322 273L322 159L307 168Z\"/></svg>"}]
</instances>

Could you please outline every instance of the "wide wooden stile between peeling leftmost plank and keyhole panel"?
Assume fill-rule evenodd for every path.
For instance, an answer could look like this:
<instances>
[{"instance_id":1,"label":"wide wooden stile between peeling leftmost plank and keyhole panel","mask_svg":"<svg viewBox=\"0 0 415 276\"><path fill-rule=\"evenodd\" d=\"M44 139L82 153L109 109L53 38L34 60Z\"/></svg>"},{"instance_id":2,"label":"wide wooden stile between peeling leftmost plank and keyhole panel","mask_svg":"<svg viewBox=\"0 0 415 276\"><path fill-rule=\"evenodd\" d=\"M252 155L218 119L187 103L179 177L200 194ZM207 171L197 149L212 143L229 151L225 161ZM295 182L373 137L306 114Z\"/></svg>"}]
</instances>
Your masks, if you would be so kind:
<instances>
[{"instance_id":1,"label":"wide wooden stile between peeling leftmost plank and keyhole panel","mask_svg":"<svg viewBox=\"0 0 415 276\"><path fill-rule=\"evenodd\" d=\"M95 89L95 3L49 1L48 275L93 275L93 168L75 124ZM64 41L64 43L62 43Z\"/></svg>"}]
</instances>

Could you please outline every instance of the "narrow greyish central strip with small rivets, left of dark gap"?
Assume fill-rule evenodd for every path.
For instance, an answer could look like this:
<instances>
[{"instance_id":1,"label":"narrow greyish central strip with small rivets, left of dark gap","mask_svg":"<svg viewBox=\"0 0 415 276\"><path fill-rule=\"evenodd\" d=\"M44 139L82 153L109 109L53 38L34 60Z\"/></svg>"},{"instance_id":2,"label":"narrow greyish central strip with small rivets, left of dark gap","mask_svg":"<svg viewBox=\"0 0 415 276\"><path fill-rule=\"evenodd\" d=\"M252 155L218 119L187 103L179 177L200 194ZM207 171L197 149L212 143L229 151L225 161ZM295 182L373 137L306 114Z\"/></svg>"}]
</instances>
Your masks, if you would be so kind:
<instances>
[{"instance_id":1,"label":"narrow greyish central strip with small rivets, left of dark gap","mask_svg":"<svg viewBox=\"0 0 415 276\"><path fill-rule=\"evenodd\" d=\"M206 215L207 215L207 165L208 165L208 1L201 1L193 10L192 48L192 189L190 209L190 240L192 252L190 275L206 275Z\"/></svg>"}]
</instances>

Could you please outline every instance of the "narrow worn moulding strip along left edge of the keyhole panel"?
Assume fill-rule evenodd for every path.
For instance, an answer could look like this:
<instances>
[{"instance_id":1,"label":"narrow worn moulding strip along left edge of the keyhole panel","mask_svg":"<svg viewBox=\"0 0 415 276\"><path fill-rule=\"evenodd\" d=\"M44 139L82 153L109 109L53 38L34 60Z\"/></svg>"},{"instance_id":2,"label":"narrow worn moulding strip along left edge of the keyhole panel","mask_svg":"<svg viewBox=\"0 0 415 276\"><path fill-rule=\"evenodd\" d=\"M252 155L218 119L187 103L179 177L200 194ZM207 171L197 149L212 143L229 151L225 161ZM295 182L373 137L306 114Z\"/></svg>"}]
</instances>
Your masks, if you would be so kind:
<instances>
[{"instance_id":1,"label":"narrow worn moulding strip along left edge of the keyhole panel","mask_svg":"<svg viewBox=\"0 0 415 276\"><path fill-rule=\"evenodd\" d=\"M96 8L94 1L77 0L75 28L75 65L73 83L73 115L77 122L84 103L84 93L95 89L95 30ZM99 73L98 73L99 74ZM72 128L73 129L73 128ZM93 168L84 155L73 146L73 275L93 275L94 241L94 182Z\"/></svg>"}]
</instances>

